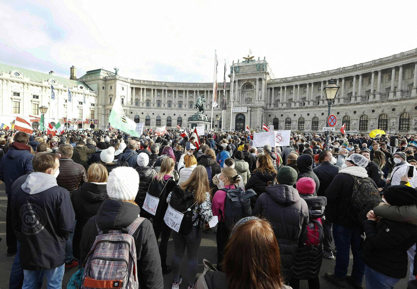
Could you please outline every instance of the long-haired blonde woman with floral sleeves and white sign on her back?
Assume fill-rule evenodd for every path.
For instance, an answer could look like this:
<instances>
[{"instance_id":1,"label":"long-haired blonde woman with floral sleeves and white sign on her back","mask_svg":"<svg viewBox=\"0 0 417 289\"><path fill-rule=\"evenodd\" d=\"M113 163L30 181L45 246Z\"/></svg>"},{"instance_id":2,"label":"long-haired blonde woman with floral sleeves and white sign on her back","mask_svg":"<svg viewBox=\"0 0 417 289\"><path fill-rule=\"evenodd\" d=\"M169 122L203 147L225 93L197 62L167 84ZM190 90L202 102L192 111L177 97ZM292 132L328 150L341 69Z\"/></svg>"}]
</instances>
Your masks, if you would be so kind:
<instances>
[{"instance_id":1,"label":"long-haired blonde woman with floral sleeves and white sign on her back","mask_svg":"<svg viewBox=\"0 0 417 289\"><path fill-rule=\"evenodd\" d=\"M188 180L174 188L172 193L168 196L168 203L170 203L171 199L176 200L175 202L172 202L172 204L170 203L170 206L168 207L168 210L170 210L171 205L175 206L174 203L177 203L179 199L183 199L187 195L186 193L191 192L193 195L193 206L188 208L189 210L178 212L180 214L182 213L181 218L183 219L181 219L180 227L178 229L173 228L172 232L172 238L174 241L174 254L172 256L172 288L174 289L179 288L179 285L182 282L182 278L180 277L181 261L186 248L188 259L188 289L194 288L194 282L196 279L198 267L198 249L200 248L201 243L201 228L204 224L204 221L210 222L213 219L213 212L211 211L211 196L209 191L210 186L208 184L206 168L203 166L196 166ZM184 214L190 210L192 211L192 218L190 218L192 229L188 235L183 235L178 231L180 231L181 226L184 225L182 223L186 221ZM175 208L172 209L171 216L175 215L175 211ZM167 213L169 212L167 211ZM214 220L217 221L216 219ZM169 224L174 223L173 220L167 221ZM216 222L213 226L215 225Z\"/></svg>"}]
</instances>

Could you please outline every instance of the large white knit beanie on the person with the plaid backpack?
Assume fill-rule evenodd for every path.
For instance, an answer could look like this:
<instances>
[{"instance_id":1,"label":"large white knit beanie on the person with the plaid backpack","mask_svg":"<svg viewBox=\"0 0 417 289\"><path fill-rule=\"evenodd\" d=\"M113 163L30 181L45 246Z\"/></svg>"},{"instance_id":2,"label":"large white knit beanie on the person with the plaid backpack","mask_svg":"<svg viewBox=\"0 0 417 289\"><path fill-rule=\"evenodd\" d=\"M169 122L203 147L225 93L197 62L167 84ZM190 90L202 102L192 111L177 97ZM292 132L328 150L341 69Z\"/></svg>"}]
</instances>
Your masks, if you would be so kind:
<instances>
[{"instance_id":1,"label":"large white knit beanie on the person with the plaid backpack","mask_svg":"<svg viewBox=\"0 0 417 289\"><path fill-rule=\"evenodd\" d=\"M134 168L128 166L113 168L108 175L106 188L110 199L133 201L138 194L139 175Z\"/></svg>"}]
</instances>

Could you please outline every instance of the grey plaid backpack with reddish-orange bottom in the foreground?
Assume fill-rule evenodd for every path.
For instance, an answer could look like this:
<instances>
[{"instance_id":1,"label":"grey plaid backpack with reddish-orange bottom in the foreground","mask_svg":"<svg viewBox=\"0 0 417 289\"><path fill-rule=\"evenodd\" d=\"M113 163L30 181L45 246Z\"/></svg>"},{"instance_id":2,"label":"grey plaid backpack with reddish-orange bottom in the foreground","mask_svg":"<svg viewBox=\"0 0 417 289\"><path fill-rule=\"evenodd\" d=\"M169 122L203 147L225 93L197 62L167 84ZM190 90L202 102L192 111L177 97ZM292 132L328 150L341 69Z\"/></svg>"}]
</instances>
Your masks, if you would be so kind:
<instances>
[{"instance_id":1,"label":"grey plaid backpack with reddish-orange bottom in the foreground","mask_svg":"<svg viewBox=\"0 0 417 289\"><path fill-rule=\"evenodd\" d=\"M136 246L132 234L145 218L137 217L126 229L101 231L85 258L81 288L139 288Z\"/></svg>"}]
</instances>

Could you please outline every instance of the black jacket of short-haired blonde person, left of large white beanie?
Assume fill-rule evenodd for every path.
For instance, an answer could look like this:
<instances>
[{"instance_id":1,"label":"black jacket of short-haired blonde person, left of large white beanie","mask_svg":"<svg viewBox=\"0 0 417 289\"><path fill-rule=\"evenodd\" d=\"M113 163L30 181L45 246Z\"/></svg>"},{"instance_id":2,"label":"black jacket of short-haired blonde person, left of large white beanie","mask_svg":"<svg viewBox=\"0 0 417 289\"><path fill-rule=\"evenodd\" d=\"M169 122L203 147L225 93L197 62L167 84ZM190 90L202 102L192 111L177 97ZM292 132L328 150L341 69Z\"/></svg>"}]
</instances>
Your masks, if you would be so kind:
<instances>
[{"instance_id":1,"label":"black jacket of short-haired blonde person, left of large white beanie","mask_svg":"<svg viewBox=\"0 0 417 289\"><path fill-rule=\"evenodd\" d=\"M106 198L106 183L83 183L81 188L75 190L71 196L75 219L77 220L73 239L73 255L77 259L80 258L80 240L85 223L97 214L101 203Z\"/></svg>"}]
</instances>

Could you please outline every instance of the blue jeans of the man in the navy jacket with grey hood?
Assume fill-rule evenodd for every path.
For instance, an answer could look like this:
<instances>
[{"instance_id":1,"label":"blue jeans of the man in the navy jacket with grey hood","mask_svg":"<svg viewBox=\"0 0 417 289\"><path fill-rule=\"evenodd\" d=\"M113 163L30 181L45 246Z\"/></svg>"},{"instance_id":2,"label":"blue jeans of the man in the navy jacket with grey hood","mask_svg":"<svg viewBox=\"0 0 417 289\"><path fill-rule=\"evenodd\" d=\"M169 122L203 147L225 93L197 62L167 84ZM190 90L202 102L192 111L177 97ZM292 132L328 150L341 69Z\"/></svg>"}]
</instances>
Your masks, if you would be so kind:
<instances>
[{"instance_id":1,"label":"blue jeans of the man in the navy jacket with grey hood","mask_svg":"<svg viewBox=\"0 0 417 289\"><path fill-rule=\"evenodd\" d=\"M24 270L25 280L23 281L22 289L36 288L38 280L41 275L46 275L48 289L62 289L62 279L64 277L65 264L48 270Z\"/></svg>"}]
</instances>

